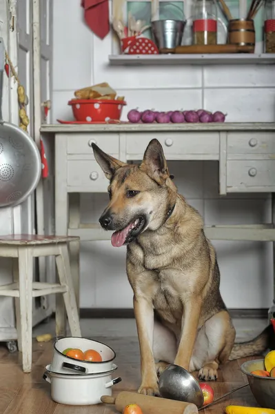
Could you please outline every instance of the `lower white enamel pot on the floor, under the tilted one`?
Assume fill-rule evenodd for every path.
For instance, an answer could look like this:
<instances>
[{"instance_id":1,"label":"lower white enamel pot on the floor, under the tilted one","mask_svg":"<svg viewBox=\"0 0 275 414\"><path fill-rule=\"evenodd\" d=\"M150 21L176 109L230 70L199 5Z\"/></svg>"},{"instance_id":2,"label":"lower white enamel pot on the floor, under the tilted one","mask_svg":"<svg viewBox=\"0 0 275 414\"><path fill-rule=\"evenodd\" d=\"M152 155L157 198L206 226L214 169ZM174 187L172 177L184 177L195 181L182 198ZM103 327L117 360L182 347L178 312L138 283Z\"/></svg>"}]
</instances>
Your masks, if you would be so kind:
<instances>
[{"instance_id":1,"label":"lower white enamel pot on the floor, under the tilted one","mask_svg":"<svg viewBox=\"0 0 275 414\"><path fill-rule=\"evenodd\" d=\"M102 395L112 395L112 386L121 382L121 377L112 380L112 371L88 375L54 373L50 365L46 366L43 379L51 384L52 400L67 405L92 405L101 403Z\"/></svg>"}]
</instances>

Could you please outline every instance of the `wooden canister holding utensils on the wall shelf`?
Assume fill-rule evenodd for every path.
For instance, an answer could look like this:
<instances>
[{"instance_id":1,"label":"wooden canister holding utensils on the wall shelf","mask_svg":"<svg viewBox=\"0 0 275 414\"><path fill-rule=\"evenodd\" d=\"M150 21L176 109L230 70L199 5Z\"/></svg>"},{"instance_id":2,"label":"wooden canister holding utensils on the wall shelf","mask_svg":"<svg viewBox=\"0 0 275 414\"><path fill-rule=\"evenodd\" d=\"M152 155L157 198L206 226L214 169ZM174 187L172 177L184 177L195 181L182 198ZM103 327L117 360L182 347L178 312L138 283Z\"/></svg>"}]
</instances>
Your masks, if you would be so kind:
<instances>
[{"instance_id":1,"label":"wooden canister holding utensils on the wall shelf","mask_svg":"<svg viewBox=\"0 0 275 414\"><path fill-rule=\"evenodd\" d=\"M228 43L238 46L255 46L254 20L230 20L228 25Z\"/></svg>"}]
</instances>

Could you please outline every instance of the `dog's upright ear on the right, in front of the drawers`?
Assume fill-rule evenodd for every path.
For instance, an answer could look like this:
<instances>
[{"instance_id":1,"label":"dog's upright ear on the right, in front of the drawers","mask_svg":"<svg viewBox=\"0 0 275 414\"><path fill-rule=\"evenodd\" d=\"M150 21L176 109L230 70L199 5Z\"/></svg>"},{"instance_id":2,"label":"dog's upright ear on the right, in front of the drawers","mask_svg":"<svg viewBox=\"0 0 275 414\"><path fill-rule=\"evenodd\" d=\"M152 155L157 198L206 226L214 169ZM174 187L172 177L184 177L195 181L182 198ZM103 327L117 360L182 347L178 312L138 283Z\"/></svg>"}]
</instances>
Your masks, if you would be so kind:
<instances>
[{"instance_id":1,"label":"dog's upright ear on the right, in front of the drawers","mask_svg":"<svg viewBox=\"0 0 275 414\"><path fill-rule=\"evenodd\" d=\"M140 168L159 184L170 177L163 148L157 139L148 144Z\"/></svg>"}]
</instances>

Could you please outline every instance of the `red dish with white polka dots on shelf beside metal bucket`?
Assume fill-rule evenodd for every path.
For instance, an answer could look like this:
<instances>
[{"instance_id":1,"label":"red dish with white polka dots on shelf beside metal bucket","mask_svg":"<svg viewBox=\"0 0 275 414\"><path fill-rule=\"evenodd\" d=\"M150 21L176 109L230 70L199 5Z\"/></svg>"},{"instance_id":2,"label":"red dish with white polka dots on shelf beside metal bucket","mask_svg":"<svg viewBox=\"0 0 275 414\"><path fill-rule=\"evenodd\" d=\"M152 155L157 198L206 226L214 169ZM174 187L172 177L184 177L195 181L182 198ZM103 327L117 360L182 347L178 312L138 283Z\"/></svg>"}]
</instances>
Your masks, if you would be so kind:
<instances>
[{"instance_id":1,"label":"red dish with white polka dots on shelf beside metal bucket","mask_svg":"<svg viewBox=\"0 0 275 414\"><path fill-rule=\"evenodd\" d=\"M121 39L121 49L125 55L159 55L154 42L145 37L125 37Z\"/></svg>"}]
</instances>

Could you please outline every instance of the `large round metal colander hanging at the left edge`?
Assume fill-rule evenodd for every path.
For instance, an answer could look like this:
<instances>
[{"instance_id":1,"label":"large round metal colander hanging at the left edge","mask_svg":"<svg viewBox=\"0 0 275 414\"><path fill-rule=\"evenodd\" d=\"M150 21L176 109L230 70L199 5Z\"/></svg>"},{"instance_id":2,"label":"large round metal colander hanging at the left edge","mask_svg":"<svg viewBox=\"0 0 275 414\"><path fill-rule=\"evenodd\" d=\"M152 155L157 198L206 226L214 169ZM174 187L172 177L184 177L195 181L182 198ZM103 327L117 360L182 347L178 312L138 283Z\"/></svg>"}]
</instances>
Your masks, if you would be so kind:
<instances>
[{"instance_id":1,"label":"large round metal colander hanging at the left edge","mask_svg":"<svg viewBox=\"0 0 275 414\"><path fill-rule=\"evenodd\" d=\"M5 48L0 38L0 207L21 204L37 187L41 157L33 139L3 121L2 90Z\"/></svg>"}]
</instances>

